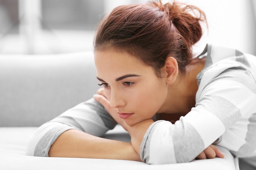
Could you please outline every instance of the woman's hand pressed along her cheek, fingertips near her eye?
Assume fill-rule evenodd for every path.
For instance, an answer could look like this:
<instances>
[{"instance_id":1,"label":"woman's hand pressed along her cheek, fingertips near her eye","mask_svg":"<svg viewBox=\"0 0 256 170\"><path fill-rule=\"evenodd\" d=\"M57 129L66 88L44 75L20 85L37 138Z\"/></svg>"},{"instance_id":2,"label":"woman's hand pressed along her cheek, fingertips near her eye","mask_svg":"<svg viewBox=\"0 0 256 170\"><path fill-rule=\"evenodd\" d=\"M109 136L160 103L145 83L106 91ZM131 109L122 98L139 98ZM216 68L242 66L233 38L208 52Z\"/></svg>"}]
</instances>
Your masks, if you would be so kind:
<instances>
[{"instance_id":1,"label":"woman's hand pressed along her cheek, fingertips near her eye","mask_svg":"<svg viewBox=\"0 0 256 170\"><path fill-rule=\"evenodd\" d=\"M107 112L112 116L113 119L115 119L115 121L117 121L117 123L119 123L121 126L123 126L123 128L128 131L128 129L130 128L130 126L128 126L126 124L126 122L124 121L124 119L121 119L118 115L118 113L114 110L114 108L110 107L109 101L106 97L106 94L104 92L103 88L99 88L97 90L97 94L93 95L94 99L99 102L100 104L103 105L103 107L107 110Z\"/></svg>"}]
</instances>

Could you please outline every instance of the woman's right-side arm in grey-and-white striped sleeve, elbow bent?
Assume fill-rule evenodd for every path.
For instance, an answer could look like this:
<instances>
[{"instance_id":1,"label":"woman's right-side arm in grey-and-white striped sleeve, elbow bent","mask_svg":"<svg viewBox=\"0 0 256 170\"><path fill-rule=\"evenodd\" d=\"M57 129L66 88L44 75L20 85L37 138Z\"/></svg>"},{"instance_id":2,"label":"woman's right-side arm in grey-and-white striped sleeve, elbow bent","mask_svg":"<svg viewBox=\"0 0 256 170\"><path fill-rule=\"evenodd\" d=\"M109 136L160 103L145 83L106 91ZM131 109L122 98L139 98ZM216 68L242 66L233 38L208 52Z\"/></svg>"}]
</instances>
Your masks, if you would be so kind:
<instances>
[{"instance_id":1,"label":"woman's right-side arm in grey-and-white striped sleeve, elbow bent","mask_svg":"<svg viewBox=\"0 0 256 170\"><path fill-rule=\"evenodd\" d=\"M206 74L206 78L209 75ZM186 116L175 124L156 121L150 125L140 146L142 161L156 164L189 162L230 131L241 117L255 113L252 101L256 100L253 93L256 84L245 69L232 68L203 83L195 108ZM240 123L247 127L245 121ZM229 134L232 138L225 138L225 143L230 146L234 141L241 141L240 130L244 131L232 128Z\"/></svg>"}]
</instances>

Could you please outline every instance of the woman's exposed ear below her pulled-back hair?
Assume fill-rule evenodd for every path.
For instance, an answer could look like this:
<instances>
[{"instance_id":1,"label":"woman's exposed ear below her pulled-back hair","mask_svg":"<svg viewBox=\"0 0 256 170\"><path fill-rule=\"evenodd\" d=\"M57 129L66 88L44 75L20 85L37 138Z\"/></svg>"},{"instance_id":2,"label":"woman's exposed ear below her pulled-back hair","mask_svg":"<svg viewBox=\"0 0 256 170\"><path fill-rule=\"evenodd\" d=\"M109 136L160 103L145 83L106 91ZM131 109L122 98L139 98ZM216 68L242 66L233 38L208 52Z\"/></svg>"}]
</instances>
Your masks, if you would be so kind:
<instances>
[{"instance_id":1,"label":"woman's exposed ear below her pulled-back hair","mask_svg":"<svg viewBox=\"0 0 256 170\"><path fill-rule=\"evenodd\" d=\"M179 73L179 67L177 60L173 57L168 57L165 62L166 70L166 82L168 84L173 84L176 81L177 75Z\"/></svg>"}]
</instances>

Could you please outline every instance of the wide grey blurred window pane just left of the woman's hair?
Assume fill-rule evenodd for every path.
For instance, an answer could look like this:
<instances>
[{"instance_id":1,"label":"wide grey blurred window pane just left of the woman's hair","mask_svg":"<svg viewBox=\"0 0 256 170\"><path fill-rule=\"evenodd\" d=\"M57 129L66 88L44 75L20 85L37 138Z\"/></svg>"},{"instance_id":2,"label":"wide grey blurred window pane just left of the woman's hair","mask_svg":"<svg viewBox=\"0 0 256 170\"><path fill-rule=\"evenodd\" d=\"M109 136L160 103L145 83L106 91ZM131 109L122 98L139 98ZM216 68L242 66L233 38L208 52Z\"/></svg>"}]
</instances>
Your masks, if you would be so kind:
<instances>
[{"instance_id":1,"label":"wide grey blurred window pane just left of the woman's hair","mask_svg":"<svg viewBox=\"0 0 256 170\"><path fill-rule=\"evenodd\" d=\"M42 0L43 29L93 30L104 12L104 0Z\"/></svg>"}]
</instances>

